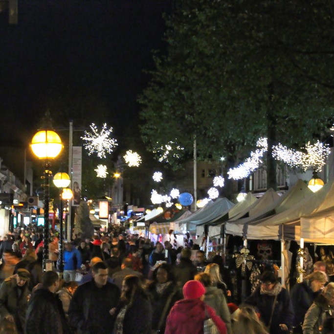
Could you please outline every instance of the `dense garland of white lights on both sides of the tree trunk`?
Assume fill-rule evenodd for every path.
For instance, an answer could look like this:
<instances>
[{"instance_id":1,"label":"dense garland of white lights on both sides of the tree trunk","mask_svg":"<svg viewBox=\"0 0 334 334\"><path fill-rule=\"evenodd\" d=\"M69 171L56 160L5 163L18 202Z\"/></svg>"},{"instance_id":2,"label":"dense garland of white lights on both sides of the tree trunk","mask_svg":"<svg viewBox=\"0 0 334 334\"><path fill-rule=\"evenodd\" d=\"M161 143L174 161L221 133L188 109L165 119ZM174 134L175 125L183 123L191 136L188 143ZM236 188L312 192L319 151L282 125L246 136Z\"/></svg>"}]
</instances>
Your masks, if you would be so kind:
<instances>
[{"instance_id":1,"label":"dense garland of white lights on both sides of the tree trunk","mask_svg":"<svg viewBox=\"0 0 334 334\"><path fill-rule=\"evenodd\" d=\"M250 157L236 168L231 168L227 174L228 178L235 180L247 178L251 173L260 167L263 163L263 156L267 152L267 138L260 138L257 142L258 149L250 153ZM303 151L288 149L282 144L273 146L273 156L276 160L281 160L292 168L301 168L306 171L312 168L315 171L321 171L325 165L326 159L331 153L328 145L322 144L319 140L315 144L308 142Z\"/></svg>"}]
</instances>

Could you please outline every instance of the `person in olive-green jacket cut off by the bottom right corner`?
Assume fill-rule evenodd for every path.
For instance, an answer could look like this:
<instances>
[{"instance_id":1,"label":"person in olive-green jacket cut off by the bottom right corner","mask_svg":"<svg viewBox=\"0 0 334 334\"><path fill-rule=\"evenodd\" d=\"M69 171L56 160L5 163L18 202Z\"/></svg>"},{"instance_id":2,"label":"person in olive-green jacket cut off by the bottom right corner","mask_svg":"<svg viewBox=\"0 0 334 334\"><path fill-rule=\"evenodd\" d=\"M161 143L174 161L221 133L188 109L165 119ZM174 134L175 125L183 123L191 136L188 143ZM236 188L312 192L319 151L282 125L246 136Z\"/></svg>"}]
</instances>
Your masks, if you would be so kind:
<instances>
[{"instance_id":1,"label":"person in olive-green jacket cut off by the bottom right corner","mask_svg":"<svg viewBox=\"0 0 334 334\"><path fill-rule=\"evenodd\" d=\"M329 283L314 299L311 307L305 314L303 334L321 333L327 318L334 314L334 283Z\"/></svg>"}]
</instances>

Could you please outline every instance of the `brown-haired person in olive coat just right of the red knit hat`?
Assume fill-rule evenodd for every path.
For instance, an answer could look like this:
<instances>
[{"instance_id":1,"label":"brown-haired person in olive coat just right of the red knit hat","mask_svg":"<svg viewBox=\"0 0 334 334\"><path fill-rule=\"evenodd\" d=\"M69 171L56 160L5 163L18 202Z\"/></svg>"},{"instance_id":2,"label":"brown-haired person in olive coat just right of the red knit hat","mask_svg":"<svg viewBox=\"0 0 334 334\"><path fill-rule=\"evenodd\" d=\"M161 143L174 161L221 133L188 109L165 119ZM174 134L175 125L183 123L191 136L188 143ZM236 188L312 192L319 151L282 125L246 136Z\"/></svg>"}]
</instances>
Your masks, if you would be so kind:
<instances>
[{"instance_id":1,"label":"brown-haired person in olive coat just right of the red knit hat","mask_svg":"<svg viewBox=\"0 0 334 334\"><path fill-rule=\"evenodd\" d=\"M216 314L222 318L227 334L232 334L231 314L223 291L212 286L211 277L205 272L195 275L195 280L202 283L205 288L204 303L211 306L216 311Z\"/></svg>"}]
</instances>

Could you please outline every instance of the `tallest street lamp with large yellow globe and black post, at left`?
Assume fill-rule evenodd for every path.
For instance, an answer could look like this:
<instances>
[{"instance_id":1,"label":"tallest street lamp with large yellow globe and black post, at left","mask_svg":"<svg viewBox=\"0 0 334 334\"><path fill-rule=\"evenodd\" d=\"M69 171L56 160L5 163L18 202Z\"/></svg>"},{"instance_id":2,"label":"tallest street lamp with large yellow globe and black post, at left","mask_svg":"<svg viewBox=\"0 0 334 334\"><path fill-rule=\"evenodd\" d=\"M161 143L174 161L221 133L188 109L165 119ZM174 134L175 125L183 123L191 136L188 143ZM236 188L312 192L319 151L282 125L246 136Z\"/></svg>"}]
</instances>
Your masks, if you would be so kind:
<instances>
[{"instance_id":1,"label":"tallest street lamp with large yellow globe and black post, at left","mask_svg":"<svg viewBox=\"0 0 334 334\"><path fill-rule=\"evenodd\" d=\"M48 114L46 114L48 116ZM51 127L50 125L48 126ZM46 129L38 131L32 138L32 152L41 160L44 160L44 249L43 249L43 269L46 270L46 260L48 259L48 237L49 237L49 181L50 175L50 160L56 158L63 149L62 141L58 134L54 131Z\"/></svg>"}]
</instances>

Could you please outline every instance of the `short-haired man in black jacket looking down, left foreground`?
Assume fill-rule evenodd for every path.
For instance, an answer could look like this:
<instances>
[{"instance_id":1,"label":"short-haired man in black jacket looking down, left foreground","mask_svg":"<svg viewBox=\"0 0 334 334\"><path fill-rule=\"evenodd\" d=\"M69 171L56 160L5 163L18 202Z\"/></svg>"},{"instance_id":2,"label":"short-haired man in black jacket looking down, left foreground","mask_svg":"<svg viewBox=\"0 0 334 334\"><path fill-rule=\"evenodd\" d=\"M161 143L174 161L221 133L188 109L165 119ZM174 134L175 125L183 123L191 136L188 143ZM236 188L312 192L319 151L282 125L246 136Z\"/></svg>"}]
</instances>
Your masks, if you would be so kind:
<instances>
[{"instance_id":1,"label":"short-haired man in black jacket looking down, left foreground","mask_svg":"<svg viewBox=\"0 0 334 334\"><path fill-rule=\"evenodd\" d=\"M69 304L70 326L77 334L109 334L114 322L109 311L117 306L120 290L107 281L105 263L96 263L92 273L93 279L76 289Z\"/></svg>"}]
</instances>

